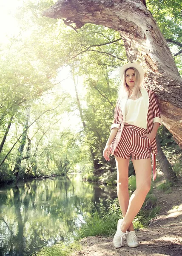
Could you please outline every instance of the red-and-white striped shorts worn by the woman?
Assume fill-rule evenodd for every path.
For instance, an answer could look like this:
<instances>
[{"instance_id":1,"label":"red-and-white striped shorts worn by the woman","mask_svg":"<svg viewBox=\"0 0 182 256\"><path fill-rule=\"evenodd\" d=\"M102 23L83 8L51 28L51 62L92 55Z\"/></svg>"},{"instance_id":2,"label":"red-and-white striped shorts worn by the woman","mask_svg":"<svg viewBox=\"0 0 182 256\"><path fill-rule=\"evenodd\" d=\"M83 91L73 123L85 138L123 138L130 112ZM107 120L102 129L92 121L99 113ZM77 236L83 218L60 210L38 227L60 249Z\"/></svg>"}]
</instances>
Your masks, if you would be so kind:
<instances>
[{"instance_id":1,"label":"red-and-white striped shorts worn by the woman","mask_svg":"<svg viewBox=\"0 0 182 256\"><path fill-rule=\"evenodd\" d=\"M148 137L142 137L147 134L147 129L141 128L128 123L124 124L121 138L114 151L114 156L138 160L144 158L151 158L151 141Z\"/></svg>"}]
</instances>

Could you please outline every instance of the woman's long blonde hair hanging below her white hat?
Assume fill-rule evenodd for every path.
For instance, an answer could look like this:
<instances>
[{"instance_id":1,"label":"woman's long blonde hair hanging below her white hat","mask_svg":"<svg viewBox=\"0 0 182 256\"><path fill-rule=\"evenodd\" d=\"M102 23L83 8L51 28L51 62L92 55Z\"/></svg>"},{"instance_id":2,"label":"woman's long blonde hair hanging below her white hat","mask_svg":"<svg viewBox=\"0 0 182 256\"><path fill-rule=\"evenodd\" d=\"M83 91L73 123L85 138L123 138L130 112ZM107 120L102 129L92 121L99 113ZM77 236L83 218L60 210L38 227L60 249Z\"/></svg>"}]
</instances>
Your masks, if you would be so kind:
<instances>
[{"instance_id":1,"label":"woman's long blonde hair hanging below her white hat","mask_svg":"<svg viewBox=\"0 0 182 256\"><path fill-rule=\"evenodd\" d=\"M119 86L118 88L118 100L119 102L122 100L123 96L125 96L128 92L129 92L129 87L128 85L126 84L126 80L125 80L125 74L126 74L126 71L128 69L133 69L134 72L135 72L135 78L136 78L136 81L135 81L135 84L134 84L134 88L132 90L132 93L131 93L131 96L130 98L132 99L138 99L139 96L140 96L140 87L141 86L141 79L140 79L140 75L139 75L139 72L136 68L134 67L129 67L125 70L125 72L123 73L123 76L122 76L122 82L121 82L121 85Z\"/></svg>"}]
</instances>

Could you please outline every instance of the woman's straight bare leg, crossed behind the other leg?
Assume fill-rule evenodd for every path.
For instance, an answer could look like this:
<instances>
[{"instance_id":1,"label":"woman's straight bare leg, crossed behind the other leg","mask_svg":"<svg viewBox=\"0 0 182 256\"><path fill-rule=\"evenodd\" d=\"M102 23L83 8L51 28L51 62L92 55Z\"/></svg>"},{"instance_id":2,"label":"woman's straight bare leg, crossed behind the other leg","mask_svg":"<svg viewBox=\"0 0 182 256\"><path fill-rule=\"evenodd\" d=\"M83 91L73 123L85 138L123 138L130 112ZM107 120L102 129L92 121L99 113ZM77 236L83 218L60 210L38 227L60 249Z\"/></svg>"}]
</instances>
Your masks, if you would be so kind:
<instances>
[{"instance_id":1,"label":"woman's straight bare leg, crossed behind the other leg","mask_svg":"<svg viewBox=\"0 0 182 256\"><path fill-rule=\"evenodd\" d=\"M125 217L129 203L128 166L130 160L120 158L117 156L115 156L115 160L117 166L117 196L122 211L122 215ZM130 231L134 231L132 221L127 229Z\"/></svg>"}]
</instances>

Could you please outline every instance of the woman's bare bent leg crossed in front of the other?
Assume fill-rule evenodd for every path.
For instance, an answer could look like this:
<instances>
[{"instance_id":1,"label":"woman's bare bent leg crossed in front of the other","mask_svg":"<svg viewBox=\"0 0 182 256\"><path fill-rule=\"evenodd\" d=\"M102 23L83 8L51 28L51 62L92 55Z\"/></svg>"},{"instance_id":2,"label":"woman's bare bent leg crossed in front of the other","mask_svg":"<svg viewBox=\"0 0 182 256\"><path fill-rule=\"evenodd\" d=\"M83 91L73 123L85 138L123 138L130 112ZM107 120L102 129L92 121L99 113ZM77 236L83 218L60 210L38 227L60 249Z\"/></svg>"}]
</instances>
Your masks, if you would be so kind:
<instances>
[{"instance_id":1,"label":"woman's bare bent leg crossed in front of the other","mask_svg":"<svg viewBox=\"0 0 182 256\"><path fill-rule=\"evenodd\" d=\"M131 222L141 209L146 195L151 188L151 160L133 160L133 165L136 173L137 189L130 197L128 209L121 225L122 232L126 232L126 230L128 230L128 227L131 225Z\"/></svg>"}]
</instances>

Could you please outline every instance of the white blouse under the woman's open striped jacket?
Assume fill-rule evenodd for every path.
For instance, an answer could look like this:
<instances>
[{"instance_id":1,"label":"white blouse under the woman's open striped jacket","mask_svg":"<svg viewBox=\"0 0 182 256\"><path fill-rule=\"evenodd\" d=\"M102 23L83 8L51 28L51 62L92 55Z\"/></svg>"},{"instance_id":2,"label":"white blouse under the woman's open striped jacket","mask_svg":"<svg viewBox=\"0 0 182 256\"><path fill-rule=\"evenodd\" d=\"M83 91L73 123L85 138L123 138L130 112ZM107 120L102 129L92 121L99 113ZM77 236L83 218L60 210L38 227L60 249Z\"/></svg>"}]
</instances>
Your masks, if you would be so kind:
<instances>
[{"instance_id":1,"label":"white blouse under the woman's open striped jacket","mask_svg":"<svg viewBox=\"0 0 182 256\"><path fill-rule=\"evenodd\" d=\"M147 129L147 122L145 119L144 102L141 96L138 99L127 99L125 122L131 125L136 125Z\"/></svg>"}]
</instances>

